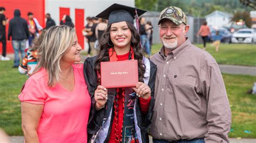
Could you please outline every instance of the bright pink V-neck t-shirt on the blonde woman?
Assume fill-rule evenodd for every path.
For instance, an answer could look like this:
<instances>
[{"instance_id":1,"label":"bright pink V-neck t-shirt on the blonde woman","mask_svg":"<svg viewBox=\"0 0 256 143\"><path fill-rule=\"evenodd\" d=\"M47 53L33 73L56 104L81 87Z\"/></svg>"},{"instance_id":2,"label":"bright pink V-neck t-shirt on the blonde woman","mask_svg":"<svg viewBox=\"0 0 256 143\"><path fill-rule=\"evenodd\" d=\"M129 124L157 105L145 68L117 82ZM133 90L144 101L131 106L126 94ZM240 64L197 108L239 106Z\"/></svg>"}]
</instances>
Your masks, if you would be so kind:
<instances>
[{"instance_id":1,"label":"bright pink V-neck t-shirt on the blonde woman","mask_svg":"<svg viewBox=\"0 0 256 143\"><path fill-rule=\"evenodd\" d=\"M75 88L69 91L60 84L47 85L42 69L26 81L21 102L43 104L37 133L42 142L87 142L87 122L91 98L84 81L83 64L73 65Z\"/></svg>"}]
</instances>

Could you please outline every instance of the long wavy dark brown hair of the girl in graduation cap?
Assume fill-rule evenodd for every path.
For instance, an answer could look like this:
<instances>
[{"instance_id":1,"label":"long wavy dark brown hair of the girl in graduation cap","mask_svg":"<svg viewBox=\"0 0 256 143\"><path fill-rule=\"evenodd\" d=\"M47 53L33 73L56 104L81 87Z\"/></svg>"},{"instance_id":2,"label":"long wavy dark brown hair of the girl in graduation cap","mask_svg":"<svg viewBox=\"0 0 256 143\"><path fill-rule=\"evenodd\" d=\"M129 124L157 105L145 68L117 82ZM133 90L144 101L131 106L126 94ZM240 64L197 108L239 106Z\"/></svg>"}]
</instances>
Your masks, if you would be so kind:
<instances>
[{"instance_id":1,"label":"long wavy dark brown hair of the girl in graduation cap","mask_svg":"<svg viewBox=\"0 0 256 143\"><path fill-rule=\"evenodd\" d=\"M130 29L132 33L131 37L131 46L133 48L134 52L134 59L138 60L138 75L139 75L139 81L143 82L143 77L145 73L145 65L143 63L143 53L142 53L142 47L140 46L140 36L136 28L129 22L126 22L128 28ZM111 24L107 25L106 31L102 35L102 39L99 41L99 54L98 58L95 63L95 70L100 74L100 62L109 61L109 49L113 47L113 42L110 39L110 28ZM98 81L100 81L100 78L98 78ZM98 82L99 84L99 82Z\"/></svg>"}]
</instances>

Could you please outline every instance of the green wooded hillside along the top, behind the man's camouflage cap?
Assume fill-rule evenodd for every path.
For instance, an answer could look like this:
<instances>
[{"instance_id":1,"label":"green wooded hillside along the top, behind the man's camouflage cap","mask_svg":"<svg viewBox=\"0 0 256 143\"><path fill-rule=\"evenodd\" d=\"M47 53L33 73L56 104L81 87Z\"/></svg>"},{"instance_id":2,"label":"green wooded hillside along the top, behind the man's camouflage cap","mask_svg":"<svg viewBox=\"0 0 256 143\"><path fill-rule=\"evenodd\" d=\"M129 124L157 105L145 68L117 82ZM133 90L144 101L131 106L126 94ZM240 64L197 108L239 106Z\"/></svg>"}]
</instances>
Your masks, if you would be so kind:
<instances>
[{"instance_id":1,"label":"green wooded hillside along the top, behind the man's camouflage cap","mask_svg":"<svg viewBox=\"0 0 256 143\"><path fill-rule=\"evenodd\" d=\"M241 1L244 3L240 3ZM241 9L251 11L255 8L255 1L256 0L135 0L135 5L140 9L158 12L167 8L167 6L173 5L182 9L185 13L190 13L196 17L205 17L215 10L228 13L234 13Z\"/></svg>"}]
</instances>

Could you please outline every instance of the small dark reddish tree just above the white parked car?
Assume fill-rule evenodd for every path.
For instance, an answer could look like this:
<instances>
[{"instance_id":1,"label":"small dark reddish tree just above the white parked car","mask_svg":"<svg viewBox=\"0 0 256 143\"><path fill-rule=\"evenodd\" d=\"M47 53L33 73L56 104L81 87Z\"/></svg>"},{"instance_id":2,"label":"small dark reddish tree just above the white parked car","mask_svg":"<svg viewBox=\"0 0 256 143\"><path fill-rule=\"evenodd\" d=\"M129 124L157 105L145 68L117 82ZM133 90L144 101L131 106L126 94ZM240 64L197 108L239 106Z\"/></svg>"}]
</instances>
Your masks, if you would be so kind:
<instances>
[{"instance_id":1,"label":"small dark reddish tree just above the white parked car","mask_svg":"<svg viewBox=\"0 0 256 143\"><path fill-rule=\"evenodd\" d=\"M252 20L251 20L249 12L247 12L247 11L235 12L234 16L232 18L232 21L239 22L240 19L242 19L245 22L246 26L248 26L248 27L252 26Z\"/></svg>"}]
</instances>

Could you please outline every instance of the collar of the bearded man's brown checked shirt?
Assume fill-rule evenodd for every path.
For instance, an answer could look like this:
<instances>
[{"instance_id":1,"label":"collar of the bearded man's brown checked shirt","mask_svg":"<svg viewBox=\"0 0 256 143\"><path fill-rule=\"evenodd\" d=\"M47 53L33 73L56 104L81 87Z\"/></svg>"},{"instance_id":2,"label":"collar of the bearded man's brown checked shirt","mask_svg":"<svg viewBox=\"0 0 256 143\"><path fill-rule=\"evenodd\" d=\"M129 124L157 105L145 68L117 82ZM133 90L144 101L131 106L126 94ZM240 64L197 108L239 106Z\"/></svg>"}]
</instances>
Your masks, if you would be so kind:
<instances>
[{"instance_id":1,"label":"collar of the bearded man's brown checked shirt","mask_svg":"<svg viewBox=\"0 0 256 143\"><path fill-rule=\"evenodd\" d=\"M178 57L181 53L183 53L188 47L190 47L190 45L191 45L191 41L186 37L186 41L183 43L183 44L181 44L179 47L177 47L176 49L174 49L172 52L170 52L169 54L173 54L173 57ZM165 49L164 49L164 46L162 46L161 47L161 49L160 49L160 52L159 52L159 54L160 54L160 56L163 58L163 59L165 59L166 58L166 56L165 56L165 54L164 54L164 51L165 51Z\"/></svg>"}]
</instances>

